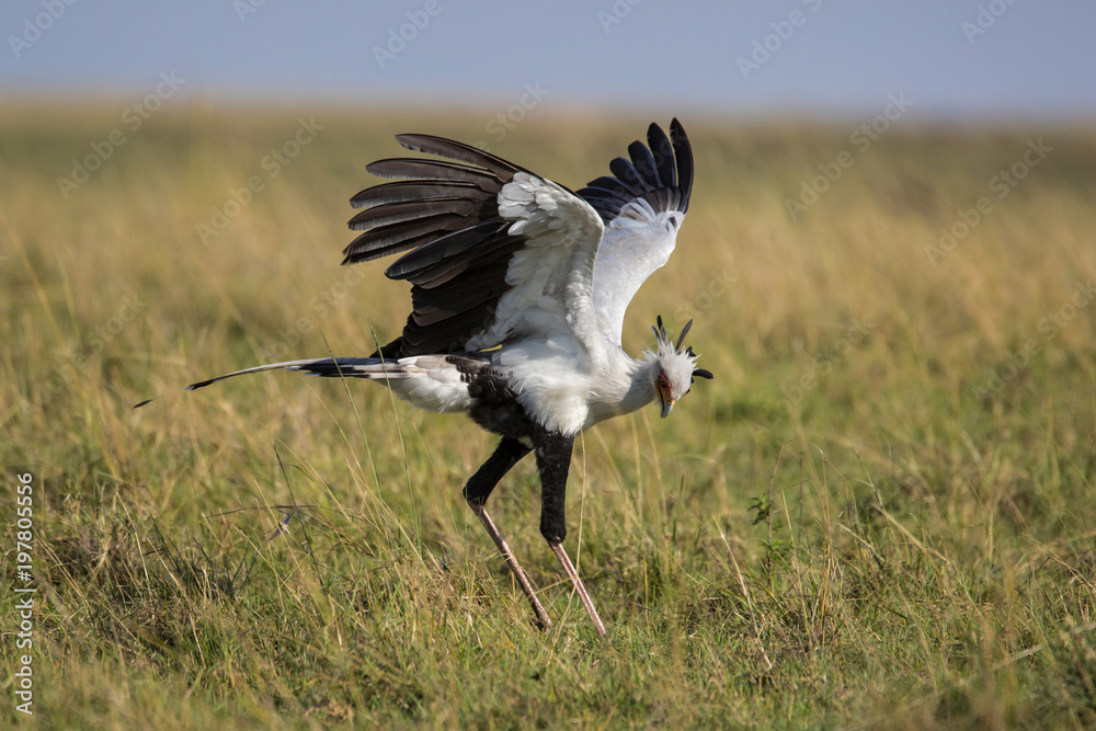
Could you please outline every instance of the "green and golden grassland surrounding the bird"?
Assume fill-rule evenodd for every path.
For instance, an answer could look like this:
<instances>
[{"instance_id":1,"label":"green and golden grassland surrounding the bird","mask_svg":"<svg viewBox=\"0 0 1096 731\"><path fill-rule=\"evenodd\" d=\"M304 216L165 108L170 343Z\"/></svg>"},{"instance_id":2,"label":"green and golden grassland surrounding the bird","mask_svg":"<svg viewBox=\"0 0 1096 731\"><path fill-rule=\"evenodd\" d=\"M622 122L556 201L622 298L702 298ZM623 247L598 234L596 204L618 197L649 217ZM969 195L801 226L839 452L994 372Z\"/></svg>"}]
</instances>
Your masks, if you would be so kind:
<instances>
[{"instance_id":1,"label":"green and golden grassland surrounding the bird","mask_svg":"<svg viewBox=\"0 0 1096 731\"><path fill-rule=\"evenodd\" d=\"M658 313L694 317L717 379L667 421L650 409L576 448L568 546L603 641L522 465L492 505L558 618L530 626L460 499L491 448L469 422L292 374L181 391L392 336L404 287L338 266L346 198L393 133L476 140L489 119L182 108L136 130L111 105L0 117L0 716L1096 726L1096 135L903 122L861 150L858 122L685 119L693 207L625 345L649 344ZM491 149L572 187L648 122L538 115ZM274 176L264 160L301 117L316 134ZM124 144L62 195L114 128ZM852 167L794 220L786 199L842 151ZM215 207L236 214L221 230ZM13 696L26 472L33 718Z\"/></svg>"}]
</instances>

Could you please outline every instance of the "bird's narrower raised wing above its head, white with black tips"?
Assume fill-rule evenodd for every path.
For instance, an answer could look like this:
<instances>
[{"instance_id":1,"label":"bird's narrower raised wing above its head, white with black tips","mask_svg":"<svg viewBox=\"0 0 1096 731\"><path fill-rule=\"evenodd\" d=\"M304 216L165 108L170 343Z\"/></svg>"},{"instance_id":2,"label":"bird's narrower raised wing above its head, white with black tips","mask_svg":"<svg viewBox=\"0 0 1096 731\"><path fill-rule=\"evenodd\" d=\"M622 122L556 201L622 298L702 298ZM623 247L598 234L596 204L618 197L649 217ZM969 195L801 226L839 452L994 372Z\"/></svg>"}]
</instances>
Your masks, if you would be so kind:
<instances>
[{"instance_id":1,"label":"bird's narrower raised wing above its head, white with black tips","mask_svg":"<svg viewBox=\"0 0 1096 731\"><path fill-rule=\"evenodd\" d=\"M630 161L609 163L612 178L579 191L605 221L594 266L594 311L602 335L617 345L631 298L673 253L693 190L693 149L681 123L670 123L669 138L652 124L647 141L628 146Z\"/></svg>"}]
</instances>

